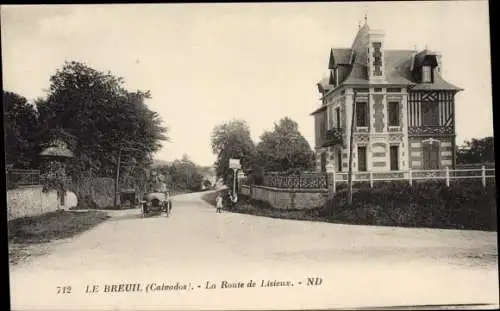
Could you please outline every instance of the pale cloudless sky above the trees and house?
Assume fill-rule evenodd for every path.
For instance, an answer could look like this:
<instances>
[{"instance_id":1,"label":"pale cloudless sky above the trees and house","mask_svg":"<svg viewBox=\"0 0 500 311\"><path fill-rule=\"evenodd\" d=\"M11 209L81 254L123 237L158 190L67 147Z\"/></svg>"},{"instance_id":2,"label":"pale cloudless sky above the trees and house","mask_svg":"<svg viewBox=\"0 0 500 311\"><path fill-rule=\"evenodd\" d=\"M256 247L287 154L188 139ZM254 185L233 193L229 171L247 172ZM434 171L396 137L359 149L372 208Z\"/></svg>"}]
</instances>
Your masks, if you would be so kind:
<instances>
[{"instance_id":1,"label":"pale cloudless sky above the trees and house","mask_svg":"<svg viewBox=\"0 0 500 311\"><path fill-rule=\"evenodd\" d=\"M443 77L465 89L458 144L493 135L487 1L2 5L3 88L33 100L64 61L80 61L151 91L170 136L157 159L212 165L212 129L231 119L257 143L290 117L314 148L316 83L365 14L387 49L442 53Z\"/></svg>"}]
</instances>

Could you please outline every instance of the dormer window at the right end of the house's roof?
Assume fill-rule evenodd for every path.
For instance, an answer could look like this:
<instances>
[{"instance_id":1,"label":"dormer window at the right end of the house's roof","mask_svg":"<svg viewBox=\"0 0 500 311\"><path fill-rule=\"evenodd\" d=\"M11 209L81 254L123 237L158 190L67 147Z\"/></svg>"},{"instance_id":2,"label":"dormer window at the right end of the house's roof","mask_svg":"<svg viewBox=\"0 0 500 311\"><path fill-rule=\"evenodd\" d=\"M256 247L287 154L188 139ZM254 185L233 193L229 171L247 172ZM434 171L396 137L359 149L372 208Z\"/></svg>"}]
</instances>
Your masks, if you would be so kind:
<instances>
[{"instance_id":1,"label":"dormer window at the right end of the house's roof","mask_svg":"<svg viewBox=\"0 0 500 311\"><path fill-rule=\"evenodd\" d=\"M427 49L413 56L411 73L418 83L434 83L439 74L441 55Z\"/></svg>"}]
</instances>

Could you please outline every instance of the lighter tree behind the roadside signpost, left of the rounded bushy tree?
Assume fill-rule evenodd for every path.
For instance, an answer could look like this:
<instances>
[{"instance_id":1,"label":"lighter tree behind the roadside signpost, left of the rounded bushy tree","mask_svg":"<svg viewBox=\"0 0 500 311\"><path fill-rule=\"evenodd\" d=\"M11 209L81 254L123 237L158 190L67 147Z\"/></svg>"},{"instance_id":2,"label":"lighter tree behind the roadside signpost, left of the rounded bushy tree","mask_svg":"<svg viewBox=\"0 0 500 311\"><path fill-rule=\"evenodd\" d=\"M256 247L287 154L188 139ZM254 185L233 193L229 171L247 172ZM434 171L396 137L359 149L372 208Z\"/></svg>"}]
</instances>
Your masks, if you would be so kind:
<instances>
[{"instance_id":1,"label":"lighter tree behind the roadside signpost, left of the rounded bushy tree","mask_svg":"<svg viewBox=\"0 0 500 311\"><path fill-rule=\"evenodd\" d=\"M231 120L214 127L211 139L212 152L217 155L216 176L225 185L232 185L233 172L229 159L240 159L242 169L256 166L257 151L250 136L250 129L243 120Z\"/></svg>"}]
</instances>

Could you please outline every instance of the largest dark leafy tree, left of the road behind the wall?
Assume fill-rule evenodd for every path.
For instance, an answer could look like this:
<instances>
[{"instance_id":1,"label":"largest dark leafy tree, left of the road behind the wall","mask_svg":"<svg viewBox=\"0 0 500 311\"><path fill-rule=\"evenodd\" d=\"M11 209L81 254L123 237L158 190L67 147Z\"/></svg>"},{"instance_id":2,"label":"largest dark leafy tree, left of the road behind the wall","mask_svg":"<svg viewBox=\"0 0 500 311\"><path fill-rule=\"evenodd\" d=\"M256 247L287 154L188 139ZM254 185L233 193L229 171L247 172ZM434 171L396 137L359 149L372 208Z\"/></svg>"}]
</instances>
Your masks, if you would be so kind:
<instances>
[{"instance_id":1,"label":"largest dark leafy tree, left of the road behind the wall","mask_svg":"<svg viewBox=\"0 0 500 311\"><path fill-rule=\"evenodd\" d=\"M37 102L41 134L46 139L60 128L74 137L73 173L114 176L118 162L148 163L168 140L159 115L145 104L149 91L129 92L122 78L78 62L66 62L50 82L47 98Z\"/></svg>"}]
</instances>

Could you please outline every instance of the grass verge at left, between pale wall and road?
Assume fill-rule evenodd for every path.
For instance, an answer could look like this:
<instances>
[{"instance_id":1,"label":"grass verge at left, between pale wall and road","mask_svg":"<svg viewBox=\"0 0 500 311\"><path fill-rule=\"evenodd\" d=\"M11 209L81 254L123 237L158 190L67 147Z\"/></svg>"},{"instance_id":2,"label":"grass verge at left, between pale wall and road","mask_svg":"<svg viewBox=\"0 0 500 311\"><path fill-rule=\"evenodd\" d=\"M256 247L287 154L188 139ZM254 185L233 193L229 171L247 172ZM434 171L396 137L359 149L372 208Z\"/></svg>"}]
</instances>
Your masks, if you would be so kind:
<instances>
[{"instance_id":1,"label":"grass verge at left, between pale wall and road","mask_svg":"<svg viewBox=\"0 0 500 311\"><path fill-rule=\"evenodd\" d=\"M9 261L16 264L27 257L44 254L42 244L76 236L108 218L101 211L55 211L13 219L7 224Z\"/></svg>"}]
</instances>

